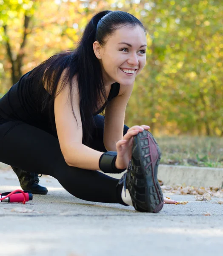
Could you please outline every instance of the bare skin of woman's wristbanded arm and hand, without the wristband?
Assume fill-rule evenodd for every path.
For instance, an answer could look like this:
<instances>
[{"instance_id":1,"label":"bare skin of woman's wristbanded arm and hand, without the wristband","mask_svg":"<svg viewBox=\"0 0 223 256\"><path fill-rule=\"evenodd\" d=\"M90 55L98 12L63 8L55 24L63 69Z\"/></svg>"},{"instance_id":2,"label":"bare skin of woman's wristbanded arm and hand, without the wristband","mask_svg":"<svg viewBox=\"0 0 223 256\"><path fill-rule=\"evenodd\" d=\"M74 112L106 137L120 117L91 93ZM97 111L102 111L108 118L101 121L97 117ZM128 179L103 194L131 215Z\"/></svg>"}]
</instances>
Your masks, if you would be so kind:
<instances>
[{"instance_id":1,"label":"bare skin of woman's wristbanded arm and hand, without the wristband","mask_svg":"<svg viewBox=\"0 0 223 256\"><path fill-rule=\"evenodd\" d=\"M63 74L61 79L63 79ZM57 92L60 90L60 87L61 83L59 81ZM69 101L69 86L66 86L60 91L54 100L54 114L60 149L69 166L88 170L100 170L99 160L103 152L96 151L82 144L83 133L79 109L80 97L76 76L74 76L73 79L73 92L73 110L77 122L74 118ZM130 145L133 137L141 131L140 129L140 126L130 128L125 136L120 136L121 140L117 141L117 158L115 161L115 167L117 169L124 169L128 166L132 155Z\"/></svg>"}]
</instances>

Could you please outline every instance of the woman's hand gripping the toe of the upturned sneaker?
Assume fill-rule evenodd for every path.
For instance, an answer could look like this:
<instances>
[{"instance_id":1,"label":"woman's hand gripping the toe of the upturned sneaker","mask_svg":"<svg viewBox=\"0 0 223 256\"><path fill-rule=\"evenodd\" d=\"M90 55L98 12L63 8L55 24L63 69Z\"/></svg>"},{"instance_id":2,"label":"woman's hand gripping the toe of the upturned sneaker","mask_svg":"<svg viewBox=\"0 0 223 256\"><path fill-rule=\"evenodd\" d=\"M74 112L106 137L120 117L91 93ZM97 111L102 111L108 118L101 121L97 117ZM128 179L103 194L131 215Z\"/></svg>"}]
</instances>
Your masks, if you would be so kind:
<instances>
[{"instance_id":1,"label":"woman's hand gripping the toe of the upturned sneaker","mask_svg":"<svg viewBox=\"0 0 223 256\"><path fill-rule=\"evenodd\" d=\"M149 130L148 125L134 125L127 133L123 136L123 140L119 140L116 143L116 150L117 150L117 158L115 161L115 166L117 169L125 169L129 165L129 160L132 158L132 145L133 145L133 138L139 132L143 130Z\"/></svg>"}]
</instances>

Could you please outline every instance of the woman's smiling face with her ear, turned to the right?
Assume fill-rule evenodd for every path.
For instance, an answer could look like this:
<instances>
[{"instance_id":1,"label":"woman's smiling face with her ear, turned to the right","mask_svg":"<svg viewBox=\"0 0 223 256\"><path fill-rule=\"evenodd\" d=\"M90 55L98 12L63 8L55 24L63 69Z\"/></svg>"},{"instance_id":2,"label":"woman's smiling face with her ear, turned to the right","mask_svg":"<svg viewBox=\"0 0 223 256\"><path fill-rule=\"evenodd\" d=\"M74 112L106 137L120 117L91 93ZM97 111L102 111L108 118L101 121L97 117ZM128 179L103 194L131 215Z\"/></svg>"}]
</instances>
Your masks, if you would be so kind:
<instances>
[{"instance_id":1,"label":"woman's smiling face with her ear, turned to the right","mask_svg":"<svg viewBox=\"0 0 223 256\"><path fill-rule=\"evenodd\" d=\"M144 30L138 25L124 26L105 41L103 47L97 41L93 44L94 53L102 65L105 86L114 82L126 86L133 84L146 64Z\"/></svg>"}]
</instances>

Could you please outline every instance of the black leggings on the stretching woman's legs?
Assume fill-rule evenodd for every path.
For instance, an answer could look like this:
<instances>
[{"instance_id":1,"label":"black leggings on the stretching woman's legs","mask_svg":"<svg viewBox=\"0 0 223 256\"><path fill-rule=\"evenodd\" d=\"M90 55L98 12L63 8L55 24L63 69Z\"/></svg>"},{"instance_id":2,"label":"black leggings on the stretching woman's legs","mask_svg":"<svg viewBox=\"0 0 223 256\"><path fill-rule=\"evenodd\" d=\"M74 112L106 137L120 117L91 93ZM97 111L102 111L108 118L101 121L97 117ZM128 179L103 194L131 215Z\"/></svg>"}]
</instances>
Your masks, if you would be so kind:
<instances>
[{"instance_id":1,"label":"black leggings on the stretching woman's legs","mask_svg":"<svg viewBox=\"0 0 223 256\"><path fill-rule=\"evenodd\" d=\"M103 116L95 116L97 128L90 147L106 151L103 144ZM125 125L123 134L128 127ZM120 203L118 179L98 171L69 166L63 158L58 138L21 121L0 124L0 162L27 172L51 175L72 195L86 201Z\"/></svg>"}]
</instances>

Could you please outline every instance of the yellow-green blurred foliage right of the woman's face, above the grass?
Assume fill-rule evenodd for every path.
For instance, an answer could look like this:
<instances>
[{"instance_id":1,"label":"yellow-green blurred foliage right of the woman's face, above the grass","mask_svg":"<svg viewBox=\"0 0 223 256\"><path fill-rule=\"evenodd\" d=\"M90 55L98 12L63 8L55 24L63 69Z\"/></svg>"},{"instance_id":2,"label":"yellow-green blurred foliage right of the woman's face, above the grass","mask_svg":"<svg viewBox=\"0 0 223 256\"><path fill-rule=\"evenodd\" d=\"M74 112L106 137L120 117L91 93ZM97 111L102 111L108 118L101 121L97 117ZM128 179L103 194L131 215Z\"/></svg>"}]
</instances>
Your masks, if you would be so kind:
<instances>
[{"instance_id":1,"label":"yellow-green blurred foliage right of the woman's face, above the grass","mask_svg":"<svg viewBox=\"0 0 223 256\"><path fill-rule=\"evenodd\" d=\"M150 47L133 92L140 123L164 134L223 135L223 6L214 0L160 0L145 7L141 20Z\"/></svg>"}]
</instances>

